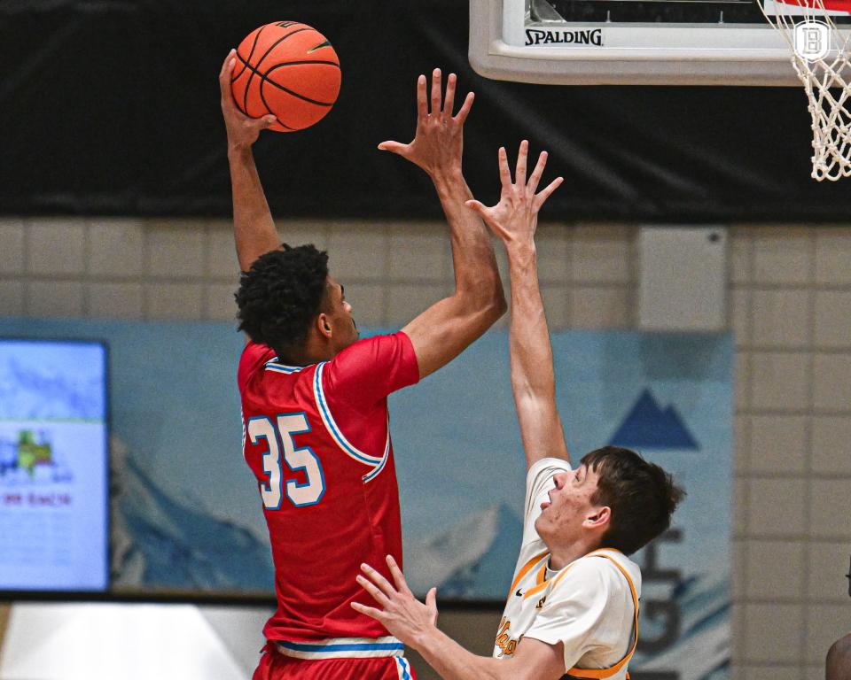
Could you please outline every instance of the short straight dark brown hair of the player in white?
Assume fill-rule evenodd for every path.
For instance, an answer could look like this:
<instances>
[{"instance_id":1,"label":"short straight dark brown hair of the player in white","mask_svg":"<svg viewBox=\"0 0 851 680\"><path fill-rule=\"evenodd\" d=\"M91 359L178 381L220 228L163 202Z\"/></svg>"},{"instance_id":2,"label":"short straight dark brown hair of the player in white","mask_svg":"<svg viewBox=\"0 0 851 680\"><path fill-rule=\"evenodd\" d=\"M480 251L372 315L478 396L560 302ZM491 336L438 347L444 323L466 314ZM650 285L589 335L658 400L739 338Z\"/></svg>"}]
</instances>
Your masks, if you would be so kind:
<instances>
[{"instance_id":1,"label":"short straight dark brown hair of the player in white","mask_svg":"<svg viewBox=\"0 0 851 680\"><path fill-rule=\"evenodd\" d=\"M591 503L612 509L605 547L630 555L671 525L685 491L660 466L620 446L586 453L580 462L599 475Z\"/></svg>"}]
</instances>

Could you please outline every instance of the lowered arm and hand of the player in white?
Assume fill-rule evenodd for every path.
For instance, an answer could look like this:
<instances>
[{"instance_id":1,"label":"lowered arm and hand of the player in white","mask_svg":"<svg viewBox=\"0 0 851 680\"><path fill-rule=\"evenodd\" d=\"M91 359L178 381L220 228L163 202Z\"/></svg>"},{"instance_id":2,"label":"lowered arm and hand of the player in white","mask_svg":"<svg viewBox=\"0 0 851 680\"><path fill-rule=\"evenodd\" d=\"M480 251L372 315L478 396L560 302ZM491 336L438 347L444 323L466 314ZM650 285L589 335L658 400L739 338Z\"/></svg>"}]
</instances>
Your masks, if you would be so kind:
<instances>
[{"instance_id":1,"label":"lowered arm and hand of the player in white","mask_svg":"<svg viewBox=\"0 0 851 680\"><path fill-rule=\"evenodd\" d=\"M416 649L444 680L558 680L565 674L561 645L548 645L540 640L524 638L509 659L469 652L437 628L435 589L428 591L423 604L414 598L402 571L390 556L387 566L395 587L366 565L363 565L366 576L358 576L358 583L382 609L359 603L353 603L352 607L381 622L391 635Z\"/></svg>"}]
</instances>

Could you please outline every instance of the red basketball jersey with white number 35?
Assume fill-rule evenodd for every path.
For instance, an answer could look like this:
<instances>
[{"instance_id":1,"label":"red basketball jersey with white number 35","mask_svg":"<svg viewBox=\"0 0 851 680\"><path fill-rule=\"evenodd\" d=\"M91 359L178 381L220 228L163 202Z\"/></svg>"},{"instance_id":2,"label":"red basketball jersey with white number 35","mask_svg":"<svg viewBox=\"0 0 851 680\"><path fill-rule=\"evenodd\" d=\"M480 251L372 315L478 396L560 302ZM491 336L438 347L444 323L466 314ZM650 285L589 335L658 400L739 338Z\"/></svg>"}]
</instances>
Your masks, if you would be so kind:
<instances>
[{"instance_id":1,"label":"red basketball jersey with white number 35","mask_svg":"<svg viewBox=\"0 0 851 680\"><path fill-rule=\"evenodd\" d=\"M399 491L387 395L417 383L408 336L363 339L330 361L285 366L249 343L239 360L243 452L257 478L275 564L269 640L379 638L358 614L362 562L402 564ZM373 605L374 606L374 605Z\"/></svg>"}]
</instances>

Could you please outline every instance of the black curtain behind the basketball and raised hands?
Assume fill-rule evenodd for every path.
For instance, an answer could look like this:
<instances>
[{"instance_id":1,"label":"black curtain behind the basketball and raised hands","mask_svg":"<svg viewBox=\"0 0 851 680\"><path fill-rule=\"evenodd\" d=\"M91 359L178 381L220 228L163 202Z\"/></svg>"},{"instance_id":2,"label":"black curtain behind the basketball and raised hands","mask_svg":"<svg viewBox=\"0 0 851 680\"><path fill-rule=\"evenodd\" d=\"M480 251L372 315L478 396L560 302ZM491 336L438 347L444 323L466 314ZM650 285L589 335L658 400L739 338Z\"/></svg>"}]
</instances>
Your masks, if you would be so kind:
<instances>
[{"instance_id":1,"label":"black curtain behind the basketball and raised hands","mask_svg":"<svg viewBox=\"0 0 851 680\"><path fill-rule=\"evenodd\" d=\"M410 141L416 77L441 66L476 92L465 174L485 202L497 147L525 137L566 179L548 219L846 219L851 179L809 177L802 88L488 81L467 61L468 12L465 0L4 0L0 213L229 215L216 76L254 27L296 19L331 40L343 84L314 128L255 147L279 218L439 216L426 176L376 145Z\"/></svg>"}]
</instances>

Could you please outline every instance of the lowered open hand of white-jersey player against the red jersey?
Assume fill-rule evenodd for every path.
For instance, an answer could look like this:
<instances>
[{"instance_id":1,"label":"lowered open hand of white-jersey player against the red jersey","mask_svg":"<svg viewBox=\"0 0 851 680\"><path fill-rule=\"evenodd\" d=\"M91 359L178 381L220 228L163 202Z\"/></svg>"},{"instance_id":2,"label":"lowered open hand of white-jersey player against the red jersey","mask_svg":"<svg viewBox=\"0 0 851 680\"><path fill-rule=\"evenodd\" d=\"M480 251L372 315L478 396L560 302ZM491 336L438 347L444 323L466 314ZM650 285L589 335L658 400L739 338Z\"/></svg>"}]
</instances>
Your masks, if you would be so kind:
<instances>
[{"instance_id":1,"label":"lowered open hand of white-jersey player against the red jersey","mask_svg":"<svg viewBox=\"0 0 851 680\"><path fill-rule=\"evenodd\" d=\"M429 630L434 630L437 624L437 589L432 588L426 594L424 605L410 591L402 569L392 556L387 555L387 567L393 576L395 587L381 576L378 571L368 564L362 564L361 569L366 576L357 576L364 591L370 593L382 609L367 607L359 602L352 602L356 612L371 616L390 631L391 635L402 640L405 645L417 647L418 638Z\"/></svg>"}]
</instances>

